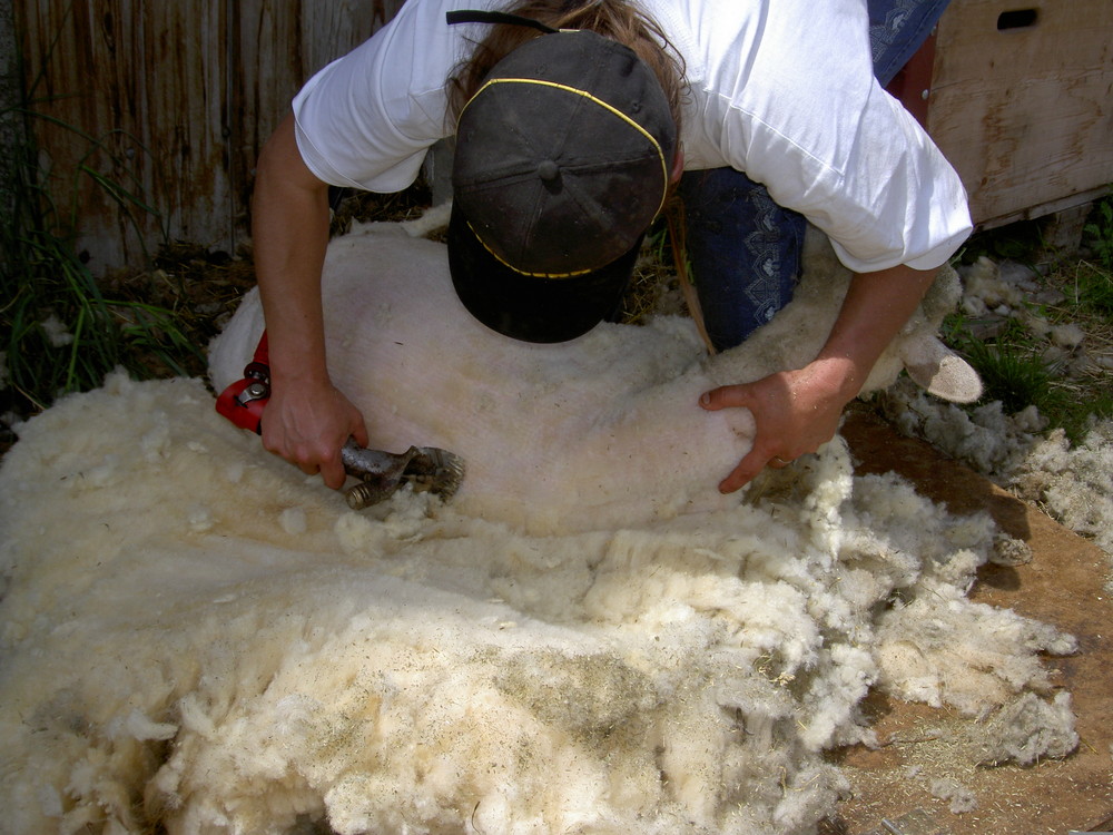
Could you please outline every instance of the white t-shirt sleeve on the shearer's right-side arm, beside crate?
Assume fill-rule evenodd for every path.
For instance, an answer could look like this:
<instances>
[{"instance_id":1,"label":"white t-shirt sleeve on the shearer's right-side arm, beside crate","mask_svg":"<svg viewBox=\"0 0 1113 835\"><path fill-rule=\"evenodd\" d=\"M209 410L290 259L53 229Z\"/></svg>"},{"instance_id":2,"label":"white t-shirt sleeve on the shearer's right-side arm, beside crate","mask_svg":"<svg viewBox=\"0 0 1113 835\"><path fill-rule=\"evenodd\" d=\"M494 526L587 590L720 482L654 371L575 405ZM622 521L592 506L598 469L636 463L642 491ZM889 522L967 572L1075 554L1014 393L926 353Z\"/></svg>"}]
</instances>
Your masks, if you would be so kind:
<instances>
[{"instance_id":1,"label":"white t-shirt sleeve on the shearer's right-side arm, beside crate","mask_svg":"<svg viewBox=\"0 0 1113 835\"><path fill-rule=\"evenodd\" d=\"M850 269L940 266L972 229L961 178L874 79L864 4L825 2L809 27L796 6L759 2L759 16L691 0L686 151L762 183Z\"/></svg>"}]
</instances>

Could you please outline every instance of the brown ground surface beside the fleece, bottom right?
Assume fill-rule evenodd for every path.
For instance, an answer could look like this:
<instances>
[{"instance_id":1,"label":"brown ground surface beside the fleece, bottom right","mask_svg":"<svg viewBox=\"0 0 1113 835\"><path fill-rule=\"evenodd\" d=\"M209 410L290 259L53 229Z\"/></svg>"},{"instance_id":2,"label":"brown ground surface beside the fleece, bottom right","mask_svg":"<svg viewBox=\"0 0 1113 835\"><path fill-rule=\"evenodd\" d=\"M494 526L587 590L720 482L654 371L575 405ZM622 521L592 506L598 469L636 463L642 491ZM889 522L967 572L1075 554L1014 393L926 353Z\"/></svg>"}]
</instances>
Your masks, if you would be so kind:
<instances>
[{"instance_id":1,"label":"brown ground surface beside the fleece, bottom right","mask_svg":"<svg viewBox=\"0 0 1113 835\"><path fill-rule=\"evenodd\" d=\"M971 719L923 705L874 700L881 746L836 753L853 785L839 815L820 835L984 835L1113 829L1113 601L1104 590L1109 558L1038 510L1018 501L928 444L898 435L866 412L853 413L843 434L859 473L898 472L953 512L987 510L1009 536L1032 548L1017 567L987 566L971 597L1054 623L1078 639L1074 656L1048 660L1072 694L1081 737L1063 760L1028 767L977 764ZM935 780L973 792L962 814L933 796ZM887 828L889 827L889 828Z\"/></svg>"}]
</instances>

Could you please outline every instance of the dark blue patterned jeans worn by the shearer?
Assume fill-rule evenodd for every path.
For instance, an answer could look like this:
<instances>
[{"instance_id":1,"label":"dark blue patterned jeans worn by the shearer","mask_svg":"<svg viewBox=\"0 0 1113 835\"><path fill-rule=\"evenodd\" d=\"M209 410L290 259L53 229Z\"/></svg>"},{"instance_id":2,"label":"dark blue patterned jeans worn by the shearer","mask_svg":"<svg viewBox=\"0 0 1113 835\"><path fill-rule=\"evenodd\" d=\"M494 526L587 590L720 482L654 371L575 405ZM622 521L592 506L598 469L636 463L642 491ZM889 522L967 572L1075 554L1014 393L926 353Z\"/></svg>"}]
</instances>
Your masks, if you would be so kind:
<instances>
[{"instance_id":1,"label":"dark blue patterned jeans worn by the shearer","mask_svg":"<svg viewBox=\"0 0 1113 835\"><path fill-rule=\"evenodd\" d=\"M949 0L868 0L874 73L887 85L927 39ZM688 258L708 336L741 343L792 297L807 222L733 168L686 173Z\"/></svg>"}]
</instances>

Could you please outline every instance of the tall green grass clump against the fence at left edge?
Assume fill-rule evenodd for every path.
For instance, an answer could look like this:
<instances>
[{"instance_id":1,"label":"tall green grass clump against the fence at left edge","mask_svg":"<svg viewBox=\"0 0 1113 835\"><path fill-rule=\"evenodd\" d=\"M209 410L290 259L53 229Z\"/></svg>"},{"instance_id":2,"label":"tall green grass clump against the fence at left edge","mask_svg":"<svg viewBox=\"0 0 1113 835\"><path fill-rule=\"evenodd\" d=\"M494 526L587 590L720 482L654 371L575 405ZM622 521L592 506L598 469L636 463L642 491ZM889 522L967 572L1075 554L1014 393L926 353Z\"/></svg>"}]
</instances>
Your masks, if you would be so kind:
<instances>
[{"instance_id":1,"label":"tall green grass clump against the fence at left edge","mask_svg":"<svg viewBox=\"0 0 1113 835\"><path fill-rule=\"evenodd\" d=\"M0 412L18 416L61 394L93 389L118 366L136 377L181 374L187 357L200 357L177 311L106 296L76 252L77 195L87 183L132 223L157 212L128 185L134 178L126 160L115 158L106 143L42 111L47 102L33 98L37 84L0 112L18 137L10 181L0 189L9 196L0 218ZM37 121L87 144L88 153L68 176L40 165L30 139ZM106 176L98 159L124 175Z\"/></svg>"}]
</instances>

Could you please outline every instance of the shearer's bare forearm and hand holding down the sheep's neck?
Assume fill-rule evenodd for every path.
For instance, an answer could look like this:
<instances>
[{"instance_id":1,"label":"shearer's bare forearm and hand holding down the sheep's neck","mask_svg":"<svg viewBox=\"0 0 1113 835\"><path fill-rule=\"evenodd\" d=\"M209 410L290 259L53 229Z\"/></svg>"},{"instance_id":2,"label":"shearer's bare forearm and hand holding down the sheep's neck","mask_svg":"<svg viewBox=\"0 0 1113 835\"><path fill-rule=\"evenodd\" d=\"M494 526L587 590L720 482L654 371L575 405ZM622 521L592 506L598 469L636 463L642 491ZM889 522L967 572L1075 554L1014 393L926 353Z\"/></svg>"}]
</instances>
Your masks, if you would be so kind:
<instances>
[{"instance_id":1,"label":"shearer's bare forearm and hand holding down the sheep's neck","mask_svg":"<svg viewBox=\"0 0 1113 835\"><path fill-rule=\"evenodd\" d=\"M834 438L843 409L861 390L886 345L912 316L935 273L896 266L856 274L815 360L802 369L722 386L700 399L700 405L712 411L749 409L757 424L754 448L719 490L738 490L767 464L784 466Z\"/></svg>"}]
</instances>

